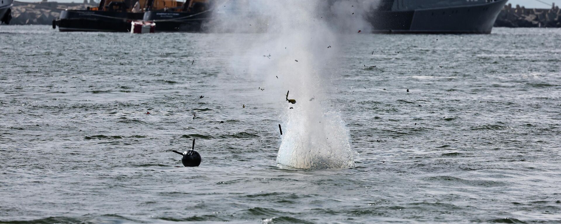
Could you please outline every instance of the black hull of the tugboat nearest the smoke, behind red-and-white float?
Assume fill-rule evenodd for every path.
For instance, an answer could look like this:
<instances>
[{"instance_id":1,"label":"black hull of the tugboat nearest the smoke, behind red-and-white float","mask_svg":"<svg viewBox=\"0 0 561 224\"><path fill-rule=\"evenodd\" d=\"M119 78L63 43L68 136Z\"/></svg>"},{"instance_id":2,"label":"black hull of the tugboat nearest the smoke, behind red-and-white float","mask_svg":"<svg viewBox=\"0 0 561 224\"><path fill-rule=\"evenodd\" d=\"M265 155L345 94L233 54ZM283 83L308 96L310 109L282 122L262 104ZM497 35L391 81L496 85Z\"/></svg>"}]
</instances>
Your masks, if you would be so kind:
<instances>
[{"instance_id":1,"label":"black hull of the tugboat nearest the smoke, behind red-and-white float","mask_svg":"<svg viewBox=\"0 0 561 224\"><path fill-rule=\"evenodd\" d=\"M209 13L196 15L190 12L157 12L144 13L144 21L156 23L156 32L201 32Z\"/></svg>"}]
</instances>

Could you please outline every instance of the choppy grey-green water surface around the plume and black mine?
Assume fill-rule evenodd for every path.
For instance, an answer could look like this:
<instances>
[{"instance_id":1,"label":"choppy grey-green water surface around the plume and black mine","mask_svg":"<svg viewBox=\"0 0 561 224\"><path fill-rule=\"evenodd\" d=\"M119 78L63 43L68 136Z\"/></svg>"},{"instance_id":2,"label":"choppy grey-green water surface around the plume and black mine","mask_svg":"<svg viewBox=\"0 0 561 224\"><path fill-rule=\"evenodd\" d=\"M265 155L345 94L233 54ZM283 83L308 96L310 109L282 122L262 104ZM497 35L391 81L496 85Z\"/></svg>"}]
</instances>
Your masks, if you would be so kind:
<instances>
[{"instance_id":1,"label":"choppy grey-green water surface around the plume and black mine","mask_svg":"<svg viewBox=\"0 0 561 224\"><path fill-rule=\"evenodd\" d=\"M215 35L252 34L0 26L0 222L561 222L561 30L330 44L358 154L312 171L276 166L285 93Z\"/></svg>"}]
</instances>

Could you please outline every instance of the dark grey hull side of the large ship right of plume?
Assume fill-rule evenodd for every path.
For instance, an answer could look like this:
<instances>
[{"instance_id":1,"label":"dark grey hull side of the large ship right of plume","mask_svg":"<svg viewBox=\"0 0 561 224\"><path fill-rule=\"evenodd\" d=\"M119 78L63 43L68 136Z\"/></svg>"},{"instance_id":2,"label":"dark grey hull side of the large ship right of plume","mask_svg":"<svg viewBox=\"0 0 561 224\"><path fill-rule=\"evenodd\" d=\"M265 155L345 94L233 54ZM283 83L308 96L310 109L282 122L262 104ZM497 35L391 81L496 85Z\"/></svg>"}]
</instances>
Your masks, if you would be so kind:
<instances>
[{"instance_id":1,"label":"dark grey hull side of the large ship right of plume","mask_svg":"<svg viewBox=\"0 0 561 224\"><path fill-rule=\"evenodd\" d=\"M414 11L378 11L369 18L374 33L489 34L507 0Z\"/></svg>"}]
</instances>

